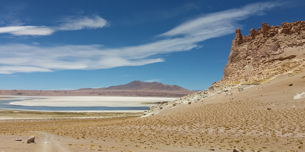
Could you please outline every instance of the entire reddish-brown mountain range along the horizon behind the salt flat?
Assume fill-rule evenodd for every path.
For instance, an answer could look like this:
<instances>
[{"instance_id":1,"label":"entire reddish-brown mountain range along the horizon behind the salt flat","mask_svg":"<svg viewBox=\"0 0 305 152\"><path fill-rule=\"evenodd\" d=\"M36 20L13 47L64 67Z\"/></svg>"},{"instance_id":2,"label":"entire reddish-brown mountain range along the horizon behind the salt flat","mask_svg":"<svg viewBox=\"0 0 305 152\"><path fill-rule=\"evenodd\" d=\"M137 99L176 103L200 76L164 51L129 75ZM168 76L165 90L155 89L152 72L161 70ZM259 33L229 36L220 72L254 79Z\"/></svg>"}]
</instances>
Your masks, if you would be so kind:
<instances>
[{"instance_id":1,"label":"entire reddish-brown mountain range along the horizon behind the salt flat","mask_svg":"<svg viewBox=\"0 0 305 152\"><path fill-rule=\"evenodd\" d=\"M82 88L77 90L0 90L0 95L23 96L156 96L181 97L194 93L176 85L133 81L108 88Z\"/></svg>"}]
</instances>

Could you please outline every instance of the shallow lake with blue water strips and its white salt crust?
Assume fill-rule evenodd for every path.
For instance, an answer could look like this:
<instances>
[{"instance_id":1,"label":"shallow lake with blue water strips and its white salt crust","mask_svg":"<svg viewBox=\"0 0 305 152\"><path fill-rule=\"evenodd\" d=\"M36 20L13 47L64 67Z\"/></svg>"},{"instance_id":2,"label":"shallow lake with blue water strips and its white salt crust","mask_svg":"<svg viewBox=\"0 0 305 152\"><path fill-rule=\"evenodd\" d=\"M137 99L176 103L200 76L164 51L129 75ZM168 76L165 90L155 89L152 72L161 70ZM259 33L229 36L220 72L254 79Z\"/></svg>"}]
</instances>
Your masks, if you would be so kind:
<instances>
[{"instance_id":1,"label":"shallow lake with blue water strips and its white salt crust","mask_svg":"<svg viewBox=\"0 0 305 152\"><path fill-rule=\"evenodd\" d=\"M0 109L35 111L90 111L90 112L143 112L151 102L172 101L175 98L159 97L36 97L6 96Z\"/></svg>"}]
</instances>

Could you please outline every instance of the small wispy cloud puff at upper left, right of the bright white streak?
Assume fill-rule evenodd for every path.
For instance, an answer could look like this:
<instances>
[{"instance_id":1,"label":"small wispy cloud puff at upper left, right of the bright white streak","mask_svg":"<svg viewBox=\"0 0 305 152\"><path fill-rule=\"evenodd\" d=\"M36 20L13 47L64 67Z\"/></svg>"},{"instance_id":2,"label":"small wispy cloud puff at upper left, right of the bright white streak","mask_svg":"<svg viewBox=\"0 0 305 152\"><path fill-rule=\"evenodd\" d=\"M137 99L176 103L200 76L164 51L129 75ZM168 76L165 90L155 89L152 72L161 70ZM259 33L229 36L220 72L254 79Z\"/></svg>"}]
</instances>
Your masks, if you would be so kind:
<instances>
[{"instance_id":1,"label":"small wispy cloud puff at upper left, right of the bright white streak","mask_svg":"<svg viewBox=\"0 0 305 152\"><path fill-rule=\"evenodd\" d=\"M57 30L79 30L84 28L102 28L109 23L98 15L93 17L67 17L62 20L62 24L55 27Z\"/></svg>"}]
</instances>

